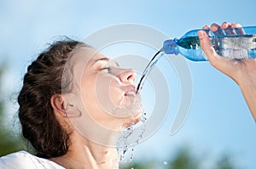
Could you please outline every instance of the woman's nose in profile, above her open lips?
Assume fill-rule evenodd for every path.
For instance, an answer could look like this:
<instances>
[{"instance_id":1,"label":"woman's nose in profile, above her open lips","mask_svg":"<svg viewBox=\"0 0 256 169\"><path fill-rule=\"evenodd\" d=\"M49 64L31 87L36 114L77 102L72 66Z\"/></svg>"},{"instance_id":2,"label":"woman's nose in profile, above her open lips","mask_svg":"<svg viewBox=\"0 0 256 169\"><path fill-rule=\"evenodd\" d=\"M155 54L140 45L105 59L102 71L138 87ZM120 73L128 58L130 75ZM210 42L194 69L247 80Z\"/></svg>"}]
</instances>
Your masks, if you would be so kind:
<instances>
[{"instance_id":1,"label":"woman's nose in profile, above her open lips","mask_svg":"<svg viewBox=\"0 0 256 169\"><path fill-rule=\"evenodd\" d=\"M131 69L119 69L119 73L116 75L121 82L131 83L135 82L136 73Z\"/></svg>"}]
</instances>

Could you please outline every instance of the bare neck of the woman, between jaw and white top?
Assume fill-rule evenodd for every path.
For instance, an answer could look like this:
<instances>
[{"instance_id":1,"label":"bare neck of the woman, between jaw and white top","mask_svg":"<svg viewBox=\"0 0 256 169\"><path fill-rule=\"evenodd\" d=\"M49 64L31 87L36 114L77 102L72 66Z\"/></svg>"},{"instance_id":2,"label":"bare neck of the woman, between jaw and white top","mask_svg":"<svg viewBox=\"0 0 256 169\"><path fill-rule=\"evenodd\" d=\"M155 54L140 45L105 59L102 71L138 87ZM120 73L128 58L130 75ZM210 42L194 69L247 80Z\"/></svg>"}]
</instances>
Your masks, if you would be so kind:
<instances>
[{"instance_id":1,"label":"bare neck of the woman, between jaw and white top","mask_svg":"<svg viewBox=\"0 0 256 169\"><path fill-rule=\"evenodd\" d=\"M50 159L65 168L119 168L117 150L113 146L96 144L78 133L71 137L67 154ZM105 140L113 142L117 136Z\"/></svg>"}]
</instances>

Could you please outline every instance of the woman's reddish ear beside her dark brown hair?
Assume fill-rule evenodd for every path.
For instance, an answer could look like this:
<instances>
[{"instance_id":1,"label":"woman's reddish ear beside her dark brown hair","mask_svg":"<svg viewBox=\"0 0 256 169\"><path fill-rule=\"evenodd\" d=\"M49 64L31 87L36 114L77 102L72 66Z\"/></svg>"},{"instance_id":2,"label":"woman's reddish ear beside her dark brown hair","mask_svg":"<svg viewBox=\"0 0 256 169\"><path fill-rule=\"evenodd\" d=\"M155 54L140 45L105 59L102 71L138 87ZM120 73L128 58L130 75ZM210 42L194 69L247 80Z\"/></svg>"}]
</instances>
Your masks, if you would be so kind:
<instances>
[{"instance_id":1,"label":"woman's reddish ear beside her dark brown hair","mask_svg":"<svg viewBox=\"0 0 256 169\"><path fill-rule=\"evenodd\" d=\"M67 115L65 110L64 99L61 94L55 94L50 98L50 104L55 112L61 113L62 116Z\"/></svg>"}]
</instances>

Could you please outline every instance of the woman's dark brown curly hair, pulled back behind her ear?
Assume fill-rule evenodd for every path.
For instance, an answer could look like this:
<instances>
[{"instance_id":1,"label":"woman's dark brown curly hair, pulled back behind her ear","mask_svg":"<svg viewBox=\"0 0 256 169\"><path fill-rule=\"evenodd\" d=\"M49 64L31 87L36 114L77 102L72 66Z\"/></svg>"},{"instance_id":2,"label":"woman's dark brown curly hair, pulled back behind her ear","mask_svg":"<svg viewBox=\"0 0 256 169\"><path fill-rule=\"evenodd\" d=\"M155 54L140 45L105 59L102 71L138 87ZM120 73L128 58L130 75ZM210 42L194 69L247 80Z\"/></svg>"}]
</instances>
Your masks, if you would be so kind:
<instances>
[{"instance_id":1,"label":"woman's dark brown curly hair, pulled back behind her ear","mask_svg":"<svg viewBox=\"0 0 256 169\"><path fill-rule=\"evenodd\" d=\"M52 43L27 67L23 86L18 96L18 115L22 135L43 158L53 158L67 153L69 132L55 118L50 98L70 88L72 79L63 82L62 73L74 48L89 47L84 42L71 39ZM63 91L62 91L63 93Z\"/></svg>"}]
</instances>

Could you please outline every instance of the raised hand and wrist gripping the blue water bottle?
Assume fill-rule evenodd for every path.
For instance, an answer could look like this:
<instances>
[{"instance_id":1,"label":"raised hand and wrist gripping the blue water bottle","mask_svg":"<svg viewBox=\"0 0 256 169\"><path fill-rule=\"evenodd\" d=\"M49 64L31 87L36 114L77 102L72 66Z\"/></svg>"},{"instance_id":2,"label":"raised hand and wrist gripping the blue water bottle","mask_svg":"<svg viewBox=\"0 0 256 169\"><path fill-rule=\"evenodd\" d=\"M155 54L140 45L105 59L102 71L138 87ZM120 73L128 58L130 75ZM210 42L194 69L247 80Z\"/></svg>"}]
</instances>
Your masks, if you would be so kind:
<instances>
[{"instance_id":1,"label":"raised hand and wrist gripping the blue water bottle","mask_svg":"<svg viewBox=\"0 0 256 169\"><path fill-rule=\"evenodd\" d=\"M222 25L212 24L204 26L203 29L210 29L218 34L219 29L227 30L228 28L241 27L239 24L229 24L224 22ZM227 34L232 34L232 31L226 31ZM241 29L240 34L244 34ZM251 110L254 121L256 121L256 59L228 59L218 55L212 47L212 42L205 31L198 31L201 48L207 55L211 65L230 76L241 88L241 93L246 99L247 105Z\"/></svg>"}]
</instances>

